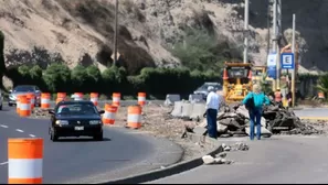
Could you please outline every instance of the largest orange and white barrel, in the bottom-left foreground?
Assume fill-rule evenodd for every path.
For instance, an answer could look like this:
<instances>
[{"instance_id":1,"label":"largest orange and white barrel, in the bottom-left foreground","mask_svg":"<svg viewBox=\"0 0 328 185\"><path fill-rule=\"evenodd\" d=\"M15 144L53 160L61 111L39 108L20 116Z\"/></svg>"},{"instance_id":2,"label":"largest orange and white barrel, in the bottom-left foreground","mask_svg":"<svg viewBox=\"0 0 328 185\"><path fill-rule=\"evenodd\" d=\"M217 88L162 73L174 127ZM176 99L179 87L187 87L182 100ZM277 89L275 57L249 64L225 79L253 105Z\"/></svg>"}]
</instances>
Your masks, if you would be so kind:
<instances>
[{"instance_id":1,"label":"largest orange and white barrel, in the bottom-left foreground","mask_svg":"<svg viewBox=\"0 0 328 185\"><path fill-rule=\"evenodd\" d=\"M42 184L43 139L8 139L8 184Z\"/></svg>"}]
</instances>

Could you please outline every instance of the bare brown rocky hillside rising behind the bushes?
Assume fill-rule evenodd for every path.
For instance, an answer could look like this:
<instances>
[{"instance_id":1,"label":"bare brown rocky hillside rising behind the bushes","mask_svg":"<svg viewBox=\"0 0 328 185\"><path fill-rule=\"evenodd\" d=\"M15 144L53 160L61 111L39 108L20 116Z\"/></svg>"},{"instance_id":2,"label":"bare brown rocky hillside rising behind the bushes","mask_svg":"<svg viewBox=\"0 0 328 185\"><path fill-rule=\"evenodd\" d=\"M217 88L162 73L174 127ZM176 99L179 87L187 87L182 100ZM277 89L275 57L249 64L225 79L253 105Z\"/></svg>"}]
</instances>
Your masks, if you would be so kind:
<instances>
[{"instance_id":1,"label":"bare brown rocky hillside rising behind the bushes","mask_svg":"<svg viewBox=\"0 0 328 185\"><path fill-rule=\"evenodd\" d=\"M242 50L242 0L119 0L118 52L130 72L145 66L177 66L172 45L186 28L203 28ZM110 64L114 0L0 0L0 30L6 34L7 66L65 61ZM290 40L292 13L303 65L328 69L325 0L283 1L283 29ZM251 0L251 61L264 64L267 52L267 1ZM325 22L326 21L326 22ZM288 30L289 29L289 30Z\"/></svg>"}]
</instances>

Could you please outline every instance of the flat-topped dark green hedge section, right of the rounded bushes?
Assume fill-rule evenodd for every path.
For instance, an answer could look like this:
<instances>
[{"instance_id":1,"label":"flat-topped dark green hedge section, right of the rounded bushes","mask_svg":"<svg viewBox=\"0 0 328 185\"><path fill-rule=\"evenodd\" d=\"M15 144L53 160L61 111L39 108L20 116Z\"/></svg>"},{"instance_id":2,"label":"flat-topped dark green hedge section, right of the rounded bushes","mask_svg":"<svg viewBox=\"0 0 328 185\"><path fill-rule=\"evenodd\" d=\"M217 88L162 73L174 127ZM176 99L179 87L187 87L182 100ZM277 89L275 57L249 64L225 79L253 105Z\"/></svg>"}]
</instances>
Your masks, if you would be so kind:
<instances>
[{"instance_id":1,"label":"flat-topped dark green hedge section, right of the rounded bushes","mask_svg":"<svg viewBox=\"0 0 328 185\"><path fill-rule=\"evenodd\" d=\"M220 81L221 77L214 72L190 73L187 68L144 68L138 76L128 77L134 94L146 91L157 98L165 98L167 94L191 94L204 81Z\"/></svg>"}]
</instances>

